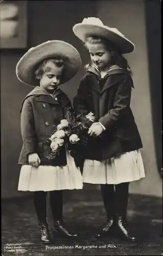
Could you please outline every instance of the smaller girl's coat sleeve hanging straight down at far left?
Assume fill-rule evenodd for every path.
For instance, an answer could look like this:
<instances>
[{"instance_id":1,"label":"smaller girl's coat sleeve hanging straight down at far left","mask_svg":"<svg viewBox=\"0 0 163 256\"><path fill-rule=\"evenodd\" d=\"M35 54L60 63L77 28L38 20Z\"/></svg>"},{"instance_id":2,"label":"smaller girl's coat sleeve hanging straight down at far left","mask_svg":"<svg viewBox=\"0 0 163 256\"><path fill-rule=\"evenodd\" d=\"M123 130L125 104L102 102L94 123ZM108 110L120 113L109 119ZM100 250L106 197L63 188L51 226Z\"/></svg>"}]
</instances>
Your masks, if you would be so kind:
<instances>
[{"instance_id":1,"label":"smaller girl's coat sleeve hanging straight down at far left","mask_svg":"<svg viewBox=\"0 0 163 256\"><path fill-rule=\"evenodd\" d=\"M26 99L21 109L21 136L26 154L36 153L36 135L32 104Z\"/></svg>"}]
</instances>

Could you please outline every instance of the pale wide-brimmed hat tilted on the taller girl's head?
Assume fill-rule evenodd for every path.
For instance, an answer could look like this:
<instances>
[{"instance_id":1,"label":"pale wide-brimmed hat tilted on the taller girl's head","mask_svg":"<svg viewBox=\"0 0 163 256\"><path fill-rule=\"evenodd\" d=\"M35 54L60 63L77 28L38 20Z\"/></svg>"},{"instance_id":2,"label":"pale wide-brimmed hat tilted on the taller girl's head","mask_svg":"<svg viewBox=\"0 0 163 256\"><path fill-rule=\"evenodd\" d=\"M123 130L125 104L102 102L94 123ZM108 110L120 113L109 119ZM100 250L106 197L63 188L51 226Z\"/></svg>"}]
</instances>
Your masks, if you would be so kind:
<instances>
[{"instance_id":1,"label":"pale wide-brimmed hat tilted on the taller girl's head","mask_svg":"<svg viewBox=\"0 0 163 256\"><path fill-rule=\"evenodd\" d=\"M126 38L118 29L104 26L99 18L84 18L82 23L73 26L74 34L86 42L89 36L100 36L113 42L120 52L130 53L134 50L134 44Z\"/></svg>"}]
</instances>

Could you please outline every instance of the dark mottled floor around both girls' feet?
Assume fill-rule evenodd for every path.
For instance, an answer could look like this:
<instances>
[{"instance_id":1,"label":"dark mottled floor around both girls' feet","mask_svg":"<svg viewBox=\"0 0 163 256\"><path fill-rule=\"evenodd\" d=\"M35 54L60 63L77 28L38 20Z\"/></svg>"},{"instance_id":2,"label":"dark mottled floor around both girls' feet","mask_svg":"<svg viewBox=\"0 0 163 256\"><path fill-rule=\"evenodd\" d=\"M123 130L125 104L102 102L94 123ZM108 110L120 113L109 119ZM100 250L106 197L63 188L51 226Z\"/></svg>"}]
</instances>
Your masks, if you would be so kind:
<instances>
[{"instance_id":1,"label":"dark mottled floor around both girls' feet","mask_svg":"<svg viewBox=\"0 0 163 256\"><path fill-rule=\"evenodd\" d=\"M75 240L56 238L47 248L39 243L39 230L31 197L2 201L3 255L161 255L162 254L162 199L130 195L128 221L137 243L115 238L97 240L93 234L105 222L100 191L64 191L64 218L67 228L77 232ZM47 209L50 231L51 212ZM113 248L113 246L115 247ZM68 246L57 249L55 246ZM80 246L92 246L81 248ZM97 246L97 248L93 248ZM101 248L103 246L103 248ZM5 251L6 250L6 251Z\"/></svg>"}]
</instances>

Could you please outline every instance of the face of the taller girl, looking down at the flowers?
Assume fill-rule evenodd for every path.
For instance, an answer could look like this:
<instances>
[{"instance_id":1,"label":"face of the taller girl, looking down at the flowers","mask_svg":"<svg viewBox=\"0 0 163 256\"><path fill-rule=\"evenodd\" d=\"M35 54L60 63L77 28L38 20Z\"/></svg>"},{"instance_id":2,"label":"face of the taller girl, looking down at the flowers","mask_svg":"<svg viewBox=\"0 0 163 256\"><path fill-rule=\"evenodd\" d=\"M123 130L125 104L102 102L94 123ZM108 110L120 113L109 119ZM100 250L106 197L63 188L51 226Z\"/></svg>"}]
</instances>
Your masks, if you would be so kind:
<instances>
[{"instance_id":1,"label":"face of the taller girl, looking down at the flowers","mask_svg":"<svg viewBox=\"0 0 163 256\"><path fill-rule=\"evenodd\" d=\"M87 49L89 50L92 62L101 70L108 70L111 66L111 58L113 52L109 52L106 47L101 44L86 43Z\"/></svg>"}]
</instances>

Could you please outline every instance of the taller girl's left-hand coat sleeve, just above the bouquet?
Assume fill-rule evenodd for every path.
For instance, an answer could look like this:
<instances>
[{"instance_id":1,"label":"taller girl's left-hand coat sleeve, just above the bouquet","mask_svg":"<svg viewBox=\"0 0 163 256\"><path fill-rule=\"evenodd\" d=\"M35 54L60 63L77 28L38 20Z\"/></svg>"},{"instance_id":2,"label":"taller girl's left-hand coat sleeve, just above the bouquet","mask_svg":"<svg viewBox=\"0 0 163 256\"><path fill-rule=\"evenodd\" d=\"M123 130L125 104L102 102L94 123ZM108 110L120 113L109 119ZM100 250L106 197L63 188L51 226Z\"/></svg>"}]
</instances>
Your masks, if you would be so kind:
<instances>
[{"instance_id":1,"label":"taller girl's left-hand coat sleeve, just above the bouquet","mask_svg":"<svg viewBox=\"0 0 163 256\"><path fill-rule=\"evenodd\" d=\"M87 104L88 90L86 82L84 79L80 81L79 88L77 90L77 95L73 99L73 108L76 115L81 115L81 121L85 123L88 127L91 126L92 122L86 118L88 114L88 104Z\"/></svg>"}]
</instances>

